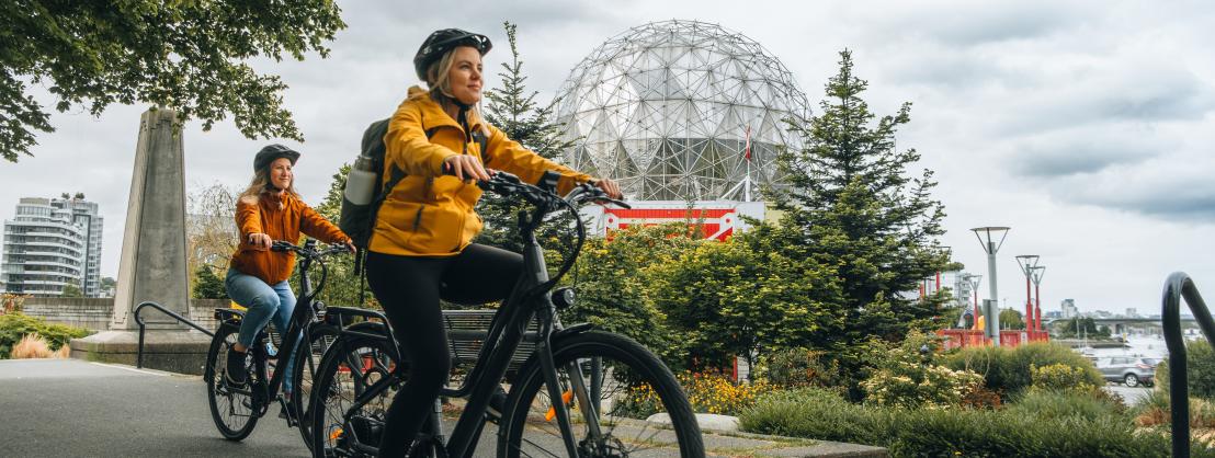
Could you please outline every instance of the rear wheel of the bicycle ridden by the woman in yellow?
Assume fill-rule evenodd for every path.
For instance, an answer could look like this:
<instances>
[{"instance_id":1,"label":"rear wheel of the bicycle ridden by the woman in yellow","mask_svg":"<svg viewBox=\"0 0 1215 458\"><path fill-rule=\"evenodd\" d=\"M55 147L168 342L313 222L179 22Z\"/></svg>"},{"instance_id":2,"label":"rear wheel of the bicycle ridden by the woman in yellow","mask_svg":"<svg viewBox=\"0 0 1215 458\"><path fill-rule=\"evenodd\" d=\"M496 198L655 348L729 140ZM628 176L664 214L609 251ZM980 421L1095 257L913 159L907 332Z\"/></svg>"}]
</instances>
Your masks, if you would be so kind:
<instances>
[{"instance_id":1,"label":"rear wheel of the bicycle ridden by the woman in yellow","mask_svg":"<svg viewBox=\"0 0 1215 458\"><path fill-rule=\"evenodd\" d=\"M382 329L378 332L383 333ZM351 412L351 418L345 418L345 414L355 397L375 381L390 377L397 364L390 345L386 335L368 338L346 334L324 352L309 401L312 409L310 447L313 456L357 456L366 453L366 449L355 449L357 446L352 443L379 446L374 431L383 431L384 415L392 405L400 384L379 392L361 409Z\"/></svg>"}]
</instances>

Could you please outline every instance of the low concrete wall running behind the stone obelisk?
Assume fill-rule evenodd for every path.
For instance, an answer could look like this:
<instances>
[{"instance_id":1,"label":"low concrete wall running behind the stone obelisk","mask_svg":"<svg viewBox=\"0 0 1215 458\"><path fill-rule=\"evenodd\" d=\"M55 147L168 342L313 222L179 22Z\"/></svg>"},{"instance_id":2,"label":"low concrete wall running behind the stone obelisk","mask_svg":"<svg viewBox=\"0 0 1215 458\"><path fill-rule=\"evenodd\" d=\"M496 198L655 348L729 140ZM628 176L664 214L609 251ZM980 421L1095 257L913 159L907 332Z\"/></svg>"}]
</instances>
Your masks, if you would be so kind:
<instances>
[{"instance_id":1,"label":"low concrete wall running behind the stone obelisk","mask_svg":"<svg viewBox=\"0 0 1215 458\"><path fill-rule=\"evenodd\" d=\"M191 299L190 320L203 329L216 327L214 310L228 306L227 299ZM108 330L114 313L114 299L102 298L29 298L22 311L50 323L74 326L89 330ZM163 317L160 311L143 310L145 318ZM151 328L151 327L149 327Z\"/></svg>"}]
</instances>

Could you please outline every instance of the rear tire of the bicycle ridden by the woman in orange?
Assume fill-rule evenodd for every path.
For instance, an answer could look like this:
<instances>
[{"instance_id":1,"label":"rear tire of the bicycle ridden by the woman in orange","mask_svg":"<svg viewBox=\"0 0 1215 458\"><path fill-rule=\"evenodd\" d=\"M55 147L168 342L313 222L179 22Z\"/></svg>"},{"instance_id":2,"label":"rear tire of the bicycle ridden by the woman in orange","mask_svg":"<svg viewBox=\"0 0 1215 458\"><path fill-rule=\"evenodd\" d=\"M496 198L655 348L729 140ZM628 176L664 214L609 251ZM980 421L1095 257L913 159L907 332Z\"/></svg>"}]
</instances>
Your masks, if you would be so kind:
<instances>
[{"instance_id":1,"label":"rear tire of the bicycle ridden by the woman in orange","mask_svg":"<svg viewBox=\"0 0 1215 458\"><path fill-rule=\"evenodd\" d=\"M207 368L203 371L211 419L224 439L230 441L248 437L260 418L254 408L253 396L232 391L225 380L227 350L236 343L238 332L239 329L231 323L220 324L211 339L210 349L207 350ZM241 413L243 411L247 413Z\"/></svg>"}]
</instances>

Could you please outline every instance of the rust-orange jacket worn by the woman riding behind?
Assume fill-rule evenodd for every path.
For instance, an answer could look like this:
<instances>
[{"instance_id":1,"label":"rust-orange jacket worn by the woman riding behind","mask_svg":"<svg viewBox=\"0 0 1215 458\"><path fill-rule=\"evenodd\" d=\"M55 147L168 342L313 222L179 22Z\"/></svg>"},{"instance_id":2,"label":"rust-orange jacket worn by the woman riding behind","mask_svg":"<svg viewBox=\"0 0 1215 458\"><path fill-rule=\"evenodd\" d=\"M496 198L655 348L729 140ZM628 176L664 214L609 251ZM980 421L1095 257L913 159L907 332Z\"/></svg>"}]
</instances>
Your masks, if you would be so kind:
<instances>
[{"instance_id":1,"label":"rust-orange jacket worn by the woman riding behind","mask_svg":"<svg viewBox=\"0 0 1215 458\"><path fill-rule=\"evenodd\" d=\"M241 245L232 254L232 268L261 278L266 284L278 284L292 276L295 254L254 249L250 233L264 233L273 241L295 243L300 232L326 243L346 243L350 237L307 207L298 197L269 192L260 198L242 198L236 203L236 227L241 230Z\"/></svg>"}]
</instances>

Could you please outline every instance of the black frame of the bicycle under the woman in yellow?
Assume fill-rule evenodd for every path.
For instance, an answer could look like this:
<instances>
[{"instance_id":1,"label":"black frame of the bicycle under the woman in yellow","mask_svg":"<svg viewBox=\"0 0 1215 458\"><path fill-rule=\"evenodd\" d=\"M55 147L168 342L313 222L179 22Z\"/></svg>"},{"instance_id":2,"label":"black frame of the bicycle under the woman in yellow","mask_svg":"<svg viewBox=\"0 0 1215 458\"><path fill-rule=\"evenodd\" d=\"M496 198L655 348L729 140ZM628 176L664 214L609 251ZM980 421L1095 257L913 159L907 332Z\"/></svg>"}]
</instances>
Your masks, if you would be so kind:
<instances>
[{"instance_id":1,"label":"black frame of the bicycle under the woman in yellow","mask_svg":"<svg viewBox=\"0 0 1215 458\"><path fill-rule=\"evenodd\" d=\"M443 441L441 422L439 422L439 412L433 412L430 420L426 422L429 428L428 431L423 431L429 435L433 440L437 440L439 443L443 445L448 457L463 457L470 458L476 448L476 442L481 436L481 429L485 426L485 415L488 408L488 402L491 395L495 392L495 388L498 386L499 380L505 377L507 368L510 363L510 356L519 347L519 344L524 341L527 337L527 324L530 323L533 313L539 320L539 329L535 333L535 341L537 343L536 350L532 354L533 357L538 357L546 373L546 385L549 388L549 396L554 400L561 398L560 392L560 380L558 380L556 367L553 360L552 343L554 338L558 338L566 333L583 332L590 328L589 324L580 324L571 328L564 328L556 315L556 306L553 304L549 296L549 288L543 290L536 289L549 281L548 266L544 261L544 253L539 243L536 239L535 231L543 221L544 215L550 213L552 208L547 204L536 204L535 208L525 209L520 211L520 234L524 239L524 271L520 273L519 281L515 283L514 289L512 289L510 295L503 301L503 305L498 309L493 317L492 324L485 339L485 345L481 347L477 356L476 364L473 366L469 375L464 378L464 381L457 389L443 388L440 390L440 396L446 397L463 397L467 398L464 406L464 412L460 413L459 419L452 429L451 437ZM578 230L584 231L582 227L583 222L577 221ZM330 310L332 312L333 310ZM375 311L346 311L363 316L374 316L388 323L386 317L383 313ZM390 347L392 351L399 352L400 350L395 345L396 338L392 334L391 327L388 328L388 335L369 335L354 330L343 330L345 334L358 334L362 337L372 338L388 338L390 339ZM402 361L401 355L396 355L397 361ZM403 364L399 364L390 378L385 378L374 383L368 388L362 395L357 396L351 407L346 409L344 418L350 418L351 413L361 409L367 402L369 402L375 396L379 396L389 386L399 383L401 377L405 375L406 371ZM572 380L572 389L575 396L577 396L580 403L583 406L590 406L589 395L587 388L583 386L581 378L575 378ZM577 445L573 442L571 431L572 424L569 415L569 409L561 402L556 402L554 406L556 412L556 419L563 431L563 440L565 441L565 447L567 453L573 457L577 456ZM436 409L437 411L437 409ZM594 412L590 408L583 411L587 420L587 426L590 428L592 432L599 434L599 425Z\"/></svg>"}]
</instances>

